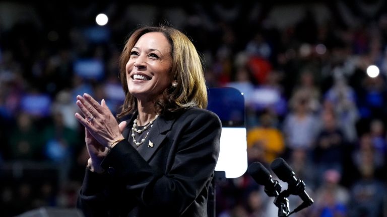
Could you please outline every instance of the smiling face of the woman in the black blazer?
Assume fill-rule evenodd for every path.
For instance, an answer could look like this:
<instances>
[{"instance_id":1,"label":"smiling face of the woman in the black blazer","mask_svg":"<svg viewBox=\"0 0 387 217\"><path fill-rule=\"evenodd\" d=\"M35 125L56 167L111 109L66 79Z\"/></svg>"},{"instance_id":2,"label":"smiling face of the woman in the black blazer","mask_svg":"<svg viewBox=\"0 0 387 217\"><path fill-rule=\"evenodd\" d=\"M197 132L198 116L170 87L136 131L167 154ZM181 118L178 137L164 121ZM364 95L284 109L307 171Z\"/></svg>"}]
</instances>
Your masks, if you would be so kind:
<instances>
[{"instance_id":1,"label":"smiling face of the woman in the black blazer","mask_svg":"<svg viewBox=\"0 0 387 217\"><path fill-rule=\"evenodd\" d=\"M153 101L171 85L171 46L160 32L140 37L126 63L126 81L131 94L141 101Z\"/></svg>"}]
</instances>

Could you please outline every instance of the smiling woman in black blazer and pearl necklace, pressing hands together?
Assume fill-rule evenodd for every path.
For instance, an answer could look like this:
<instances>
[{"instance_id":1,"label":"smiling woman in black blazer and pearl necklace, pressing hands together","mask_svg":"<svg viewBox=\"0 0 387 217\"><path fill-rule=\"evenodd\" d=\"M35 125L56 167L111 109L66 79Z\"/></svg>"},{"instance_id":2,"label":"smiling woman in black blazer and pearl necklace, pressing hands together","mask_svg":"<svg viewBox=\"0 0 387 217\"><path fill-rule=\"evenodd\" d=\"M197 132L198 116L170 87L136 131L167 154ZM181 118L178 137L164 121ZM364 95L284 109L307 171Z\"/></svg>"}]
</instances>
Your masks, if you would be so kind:
<instances>
[{"instance_id":1,"label":"smiling woman in black blazer and pearl necklace, pressing hands together","mask_svg":"<svg viewBox=\"0 0 387 217\"><path fill-rule=\"evenodd\" d=\"M77 96L90 155L77 206L85 216L207 216L221 122L205 109L197 50L174 28L143 27L119 64L124 121Z\"/></svg>"}]
</instances>

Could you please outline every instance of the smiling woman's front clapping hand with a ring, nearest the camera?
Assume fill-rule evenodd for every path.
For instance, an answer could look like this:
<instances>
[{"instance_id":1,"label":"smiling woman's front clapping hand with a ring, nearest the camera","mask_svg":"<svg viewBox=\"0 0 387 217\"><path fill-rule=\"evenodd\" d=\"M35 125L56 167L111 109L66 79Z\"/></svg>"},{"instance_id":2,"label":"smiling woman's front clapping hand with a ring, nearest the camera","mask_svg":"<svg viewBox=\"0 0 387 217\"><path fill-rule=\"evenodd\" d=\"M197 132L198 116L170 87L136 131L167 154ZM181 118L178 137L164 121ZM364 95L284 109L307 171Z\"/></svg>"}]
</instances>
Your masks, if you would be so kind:
<instances>
[{"instance_id":1,"label":"smiling woman's front clapping hand with a ring, nearest the camera","mask_svg":"<svg viewBox=\"0 0 387 217\"><path fill-rule=\"evenodd\" d=\"M118 123L104 99L99 104L89 94L84 93L83 96L77 96L77 105L84 117L79 113L76 113L75 117L99 145L104 148L109 148L115 141L123 139ZM100 154L106 151L102 147L98 146L98 149L96 149Z\"/></svg>"}]
</instances>

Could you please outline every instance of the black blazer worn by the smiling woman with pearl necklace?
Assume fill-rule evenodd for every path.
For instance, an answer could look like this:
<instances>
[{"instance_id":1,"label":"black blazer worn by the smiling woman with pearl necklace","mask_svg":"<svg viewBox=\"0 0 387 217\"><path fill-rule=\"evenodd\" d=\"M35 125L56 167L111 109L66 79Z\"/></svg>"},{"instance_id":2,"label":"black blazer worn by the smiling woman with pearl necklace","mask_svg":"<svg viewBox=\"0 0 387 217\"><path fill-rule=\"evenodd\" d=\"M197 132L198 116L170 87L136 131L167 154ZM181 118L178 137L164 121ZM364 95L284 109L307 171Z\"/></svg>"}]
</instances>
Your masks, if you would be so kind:
<instances>
[{"instance_id":1,"label":"black blazer worn by the smiling woman with pearl necklace","mask_svg":"<svg viewBox=\"0 0 387 217\"><path fill-rule=\"evenodd\" d=\"M86 169L77 207L87 217L207 216L219 156L219 117L200 108L175 118L160 116L137 149L127 141L136 117L127 122L126 140L102 161L106 172Z\"/></svg>"}]
</instances>

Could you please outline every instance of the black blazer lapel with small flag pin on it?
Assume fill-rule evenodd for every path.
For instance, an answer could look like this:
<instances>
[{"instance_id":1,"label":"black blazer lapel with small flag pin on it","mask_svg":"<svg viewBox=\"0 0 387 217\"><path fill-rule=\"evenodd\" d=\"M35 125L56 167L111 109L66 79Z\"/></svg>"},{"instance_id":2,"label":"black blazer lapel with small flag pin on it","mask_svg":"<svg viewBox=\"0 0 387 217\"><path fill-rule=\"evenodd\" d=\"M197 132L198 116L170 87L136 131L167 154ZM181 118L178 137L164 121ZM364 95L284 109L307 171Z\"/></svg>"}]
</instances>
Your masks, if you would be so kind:
<instances>
[{"instance_id":1,"label":"black blazer lapel with small flag pin on it","mask_svg":"<svg viewBox=\"0 0 387 217\"><path fill-rule=\"evenodd\" d=\"M171 129L173 122L174 120L165 120L163 116L160 116L153 123L147 139L138 149L140 155L146 161L149 161L163 144L163 141L166 138L166 132Z\"/></svg>"}]
</instances>

